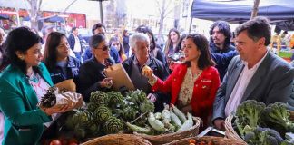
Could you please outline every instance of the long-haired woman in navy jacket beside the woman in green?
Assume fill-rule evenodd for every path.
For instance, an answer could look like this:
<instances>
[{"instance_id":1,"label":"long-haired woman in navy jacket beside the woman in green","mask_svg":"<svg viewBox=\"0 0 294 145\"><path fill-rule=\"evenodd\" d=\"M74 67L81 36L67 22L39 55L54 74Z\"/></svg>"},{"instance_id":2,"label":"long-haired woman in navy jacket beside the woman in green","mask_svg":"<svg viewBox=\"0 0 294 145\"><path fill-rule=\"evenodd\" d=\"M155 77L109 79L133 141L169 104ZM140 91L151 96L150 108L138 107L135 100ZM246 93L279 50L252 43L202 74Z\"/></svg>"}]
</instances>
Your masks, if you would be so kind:
<instances>
[{"instance_id":1,"label":"long-haired woman in navy jacket beside the woman in green","mask_svg":"<svg viewBox=\"0 0 294 145\"><path fill-rule=\"evenodd\" d=\"M48 35L43 60L54 84L68 79L73 79L75 83L78 82L81 63L70 56L69 52L70 46L65 34L52 32Z\"/></svg>"}]
</instances>

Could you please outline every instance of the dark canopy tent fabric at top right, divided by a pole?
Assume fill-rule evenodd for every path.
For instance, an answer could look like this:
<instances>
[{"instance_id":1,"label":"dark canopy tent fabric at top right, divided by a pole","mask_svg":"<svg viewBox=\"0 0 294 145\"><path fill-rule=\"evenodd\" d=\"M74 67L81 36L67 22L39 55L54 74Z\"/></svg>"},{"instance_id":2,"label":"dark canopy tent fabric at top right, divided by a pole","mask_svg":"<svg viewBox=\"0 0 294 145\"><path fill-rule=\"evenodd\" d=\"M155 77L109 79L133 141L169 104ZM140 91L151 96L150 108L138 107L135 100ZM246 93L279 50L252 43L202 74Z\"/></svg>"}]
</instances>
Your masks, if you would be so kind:
<instances>
[{"instance_id":1,"label":"dark canopy tent fabric at top right, divided by a pole","mask_svg":"<svg viewBox=\"0 0 294 145\"><path fill-rule=\"evenodd\" d=\"M250 20L253 8L253 1L246 1L193 0L191 17L241 24ZM270 22L277 24L280 29L294 30L294 1L268 0L268 2L268 4L260 5L258 15L268 17Z\"/></svg>"}]
</instances>

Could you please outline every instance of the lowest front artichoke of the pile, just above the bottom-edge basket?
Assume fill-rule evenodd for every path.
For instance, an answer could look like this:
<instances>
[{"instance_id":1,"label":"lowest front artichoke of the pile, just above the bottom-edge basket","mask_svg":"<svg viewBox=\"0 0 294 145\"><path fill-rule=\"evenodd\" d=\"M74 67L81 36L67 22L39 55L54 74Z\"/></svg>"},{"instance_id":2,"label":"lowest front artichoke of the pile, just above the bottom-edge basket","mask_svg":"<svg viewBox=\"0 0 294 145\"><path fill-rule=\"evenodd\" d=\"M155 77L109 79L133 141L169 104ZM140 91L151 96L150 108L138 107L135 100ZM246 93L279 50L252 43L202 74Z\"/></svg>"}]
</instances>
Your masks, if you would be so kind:
<instances>
[{"instance_id":1,"label":"lowest front artichoke of the pile, just above the bottom-edge basket","mask_svg":"<svg viewBox=\"0 0 294 145\"><path fill-rule=\"evenodd\" d=\"M123 129L122 121L115 117L110 117L103 126L103 130L107 134L117 133L119 131L122 131L122 129Z\"/></svg>"}]
</instances>

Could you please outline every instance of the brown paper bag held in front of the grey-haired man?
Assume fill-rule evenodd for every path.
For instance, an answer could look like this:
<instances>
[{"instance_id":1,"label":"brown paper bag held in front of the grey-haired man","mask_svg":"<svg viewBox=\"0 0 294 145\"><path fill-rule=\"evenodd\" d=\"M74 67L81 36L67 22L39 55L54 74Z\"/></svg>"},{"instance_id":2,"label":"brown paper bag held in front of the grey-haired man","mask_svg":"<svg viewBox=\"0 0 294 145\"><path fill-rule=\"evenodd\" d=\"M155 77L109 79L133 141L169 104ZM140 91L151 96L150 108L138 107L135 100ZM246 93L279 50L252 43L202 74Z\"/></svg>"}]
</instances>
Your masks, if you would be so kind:
<instances>
[{"instance_id":1,"label":"brown paper bag held in front of the grey-haired man","mask_svg":"<svg viewBox=\"0 0 294 145\"><path fill-rule=\"evenodd\" d=\"M122 86L127 87L130 91L134 90L132 80L128 73L125 72L122 63L108 67L104 73L107 77L113 78L113 89L115 91L119 91Z\"/></svg>"}]
</instances>

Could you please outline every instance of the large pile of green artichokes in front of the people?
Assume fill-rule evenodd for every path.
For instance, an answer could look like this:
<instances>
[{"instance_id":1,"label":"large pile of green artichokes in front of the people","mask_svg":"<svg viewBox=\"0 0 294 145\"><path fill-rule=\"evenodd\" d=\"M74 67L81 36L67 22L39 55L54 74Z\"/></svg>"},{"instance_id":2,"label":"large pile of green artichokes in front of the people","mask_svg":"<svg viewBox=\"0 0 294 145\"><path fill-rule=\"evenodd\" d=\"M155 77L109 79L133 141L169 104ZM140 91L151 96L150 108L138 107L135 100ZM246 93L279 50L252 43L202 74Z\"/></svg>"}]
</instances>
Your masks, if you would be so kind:
<instances>
[{"instance_id":1,"label":"large pile of green artichokes in front of the people","mask_svg":"<svg viewBox=\"0 0 294 145\"><path fill-rule=\"evenodd\" d=\"M66 114L64 126L78 139L127 131L125 122L142 123L142 114L153 112L154 105L140 90L128 92L92 92L90 102Z\"/></svg>"}]
</instances>

